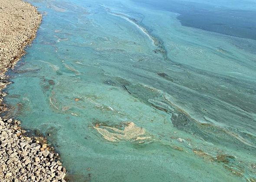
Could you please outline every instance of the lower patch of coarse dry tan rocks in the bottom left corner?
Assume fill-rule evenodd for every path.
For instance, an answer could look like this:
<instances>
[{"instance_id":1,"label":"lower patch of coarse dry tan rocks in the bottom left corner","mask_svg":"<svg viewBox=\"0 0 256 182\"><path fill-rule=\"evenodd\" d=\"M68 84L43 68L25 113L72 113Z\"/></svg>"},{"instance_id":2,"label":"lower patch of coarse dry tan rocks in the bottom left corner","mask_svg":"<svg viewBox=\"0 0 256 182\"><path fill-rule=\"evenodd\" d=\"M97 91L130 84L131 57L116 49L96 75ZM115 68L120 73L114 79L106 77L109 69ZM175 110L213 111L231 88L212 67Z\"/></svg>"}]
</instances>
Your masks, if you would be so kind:
<instances>
[{"instance_id":1,"label":"lower patch of coarse dry tan rocks in the bottom left corner","mask_svg":"<svg viewBox=\"0 0 256 182\"><path fill-rule=\"evenodd\" d=\"M64 182L66 169L46 144L23 135L17 120L0 118L0 181Z\"/></svg>"}]
</instances>

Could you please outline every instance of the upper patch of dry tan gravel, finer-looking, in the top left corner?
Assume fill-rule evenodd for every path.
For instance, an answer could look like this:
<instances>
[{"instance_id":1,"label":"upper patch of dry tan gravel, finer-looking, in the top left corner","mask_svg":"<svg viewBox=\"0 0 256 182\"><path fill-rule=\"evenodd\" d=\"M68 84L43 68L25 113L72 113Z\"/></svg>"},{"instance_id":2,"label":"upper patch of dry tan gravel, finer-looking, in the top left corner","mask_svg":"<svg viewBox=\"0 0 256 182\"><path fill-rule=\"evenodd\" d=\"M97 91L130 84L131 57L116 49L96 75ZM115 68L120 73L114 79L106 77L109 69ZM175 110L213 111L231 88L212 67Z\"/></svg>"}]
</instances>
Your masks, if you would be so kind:
<instances>
[{"instance_id":1,"label":"upper patch of dry tan gravel, finer-looking, in the top left corner","mask_svg":"<svg viewBox=\"0 0 256 182\"><path fill-rule=\"evenodd\" d=\"M22 0L0 0L0 71L13 67L35 37L42 16Z\"/></svg>"}]
</instances>

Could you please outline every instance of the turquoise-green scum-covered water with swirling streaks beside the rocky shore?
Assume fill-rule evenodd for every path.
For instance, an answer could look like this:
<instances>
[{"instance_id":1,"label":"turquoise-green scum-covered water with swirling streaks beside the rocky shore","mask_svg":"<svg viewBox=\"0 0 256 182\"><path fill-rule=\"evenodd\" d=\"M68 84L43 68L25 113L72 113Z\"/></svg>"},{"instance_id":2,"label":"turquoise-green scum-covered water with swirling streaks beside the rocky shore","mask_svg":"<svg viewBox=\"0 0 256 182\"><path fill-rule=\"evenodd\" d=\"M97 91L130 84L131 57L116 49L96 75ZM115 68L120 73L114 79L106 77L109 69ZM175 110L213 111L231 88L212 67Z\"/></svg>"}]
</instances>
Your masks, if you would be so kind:
<instances>
[{"instance_id":1,"label":"turquoise-green scum-covered water with swirling streaks beside the rocky shore","mask_svg":"<svg viewBox=\"0 0 256 182\"><path fill-rule=\"evenodd\" d=\"M30 2L43 22L9 72L7 116L49 135L70 181L256 179L255 40L154 4Z\"/></svg>"}]
</instances>

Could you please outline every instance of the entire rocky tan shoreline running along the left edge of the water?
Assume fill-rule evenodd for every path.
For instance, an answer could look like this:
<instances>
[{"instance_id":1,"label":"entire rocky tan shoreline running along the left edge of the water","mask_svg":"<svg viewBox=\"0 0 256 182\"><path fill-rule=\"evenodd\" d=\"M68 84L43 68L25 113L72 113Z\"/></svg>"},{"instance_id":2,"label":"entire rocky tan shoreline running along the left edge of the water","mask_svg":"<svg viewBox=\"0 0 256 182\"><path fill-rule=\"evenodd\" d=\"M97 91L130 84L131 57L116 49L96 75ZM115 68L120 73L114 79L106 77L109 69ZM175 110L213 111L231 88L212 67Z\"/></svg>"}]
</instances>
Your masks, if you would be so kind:
<instances>
[{"instance_id":1,"label":"entire rocky tan shoreline running along the left edge of the water","mask_svg":"<svg viewBox=\"0 0 256 182\"><path fill-rule=\"evenodd\" d=\"M0 0L0 114L7 110L2 92L11 82L5 75L36 37L42 16L30 3ZM43 136L26 136L20 121L0 118L0 181L65 181L66 169Z\"/></svg>"}]
</instances>

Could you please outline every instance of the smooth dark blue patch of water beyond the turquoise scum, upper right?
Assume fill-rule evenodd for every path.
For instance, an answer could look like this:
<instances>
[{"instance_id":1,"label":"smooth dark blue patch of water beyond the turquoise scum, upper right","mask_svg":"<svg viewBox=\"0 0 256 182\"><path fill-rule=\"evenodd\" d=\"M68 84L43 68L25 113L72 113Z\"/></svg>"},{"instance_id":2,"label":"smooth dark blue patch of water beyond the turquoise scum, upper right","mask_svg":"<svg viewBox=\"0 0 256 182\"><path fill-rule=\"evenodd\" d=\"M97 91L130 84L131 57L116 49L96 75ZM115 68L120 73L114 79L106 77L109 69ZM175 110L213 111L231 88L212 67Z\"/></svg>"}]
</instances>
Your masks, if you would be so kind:
<instances>
[{"instance_id":1,"label":"smooth dark blue patch of water beyond the turquoise scum, upper right","mask_svg":"<svg viewBox=\"0 0 256 182\"><path fill-rule=\"evenodd\" d=\"M256 40L256 11L178 0L133 0L144 6L181 14L183 26Z\"/></svg>"}]
</instances>

